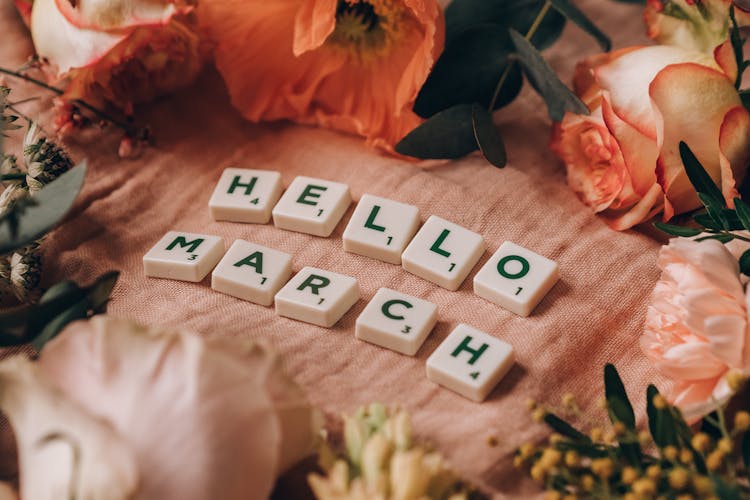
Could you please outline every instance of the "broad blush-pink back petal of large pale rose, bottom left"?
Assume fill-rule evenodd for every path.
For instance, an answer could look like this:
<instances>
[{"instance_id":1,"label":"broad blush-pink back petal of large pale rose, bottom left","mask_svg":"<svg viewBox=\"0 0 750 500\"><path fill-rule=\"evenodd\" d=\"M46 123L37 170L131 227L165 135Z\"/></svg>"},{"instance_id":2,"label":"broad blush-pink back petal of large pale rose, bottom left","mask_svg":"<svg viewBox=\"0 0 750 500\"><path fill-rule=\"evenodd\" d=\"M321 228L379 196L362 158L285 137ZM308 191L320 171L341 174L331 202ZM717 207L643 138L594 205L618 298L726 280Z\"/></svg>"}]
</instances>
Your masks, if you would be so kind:
<instances>
[{"instance_id":1,"label":"broad blush-pink back petal of large pale rose, bottom left","mask_svg":"<svg viewBox=\"0 0 750 500\"><path fill-rule=\"evenodd\" d=\"M246 341L97 316L48 344L40 364L128 436L144 471L138 498L266 498L315 436L300 391L277 379L276 356Z\"/></svg>"}]
</instances>

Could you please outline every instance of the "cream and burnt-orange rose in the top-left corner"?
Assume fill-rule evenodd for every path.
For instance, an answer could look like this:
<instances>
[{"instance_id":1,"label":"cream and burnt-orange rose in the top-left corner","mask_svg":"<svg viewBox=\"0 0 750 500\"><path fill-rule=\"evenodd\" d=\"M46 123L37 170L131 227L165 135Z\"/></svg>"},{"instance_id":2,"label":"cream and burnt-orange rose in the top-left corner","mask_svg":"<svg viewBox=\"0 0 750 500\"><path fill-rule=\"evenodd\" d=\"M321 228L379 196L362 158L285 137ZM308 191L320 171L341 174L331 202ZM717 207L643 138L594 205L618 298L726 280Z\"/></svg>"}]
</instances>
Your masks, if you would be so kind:
<instances>
[{"instance_id":1,"label":"cream and burnt-orange rose in the top-left corner","mask_svg":"<svg viewBox=\"0 0 750 500\"><path fill-rule=\"evenodd\" d=\"M189 84L201 42L182 0L34 0L31 35L66 99L105 102L130 112Z\"/></svg>"}]
</instances>

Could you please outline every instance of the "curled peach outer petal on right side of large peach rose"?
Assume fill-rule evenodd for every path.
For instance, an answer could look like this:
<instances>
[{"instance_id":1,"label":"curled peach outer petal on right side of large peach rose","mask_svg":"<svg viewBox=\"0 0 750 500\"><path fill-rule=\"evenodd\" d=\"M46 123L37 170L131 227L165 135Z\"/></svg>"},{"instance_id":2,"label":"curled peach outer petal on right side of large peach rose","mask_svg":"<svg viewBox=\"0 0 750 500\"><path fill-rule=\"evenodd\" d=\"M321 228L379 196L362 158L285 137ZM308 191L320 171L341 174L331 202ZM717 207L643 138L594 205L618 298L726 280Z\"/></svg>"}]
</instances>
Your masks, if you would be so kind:
<instances>
[{"instance_id":1,"label":"curled peach outer petal on right side of large peach rose","mask_svg":"<svg viewBox=\"0 0 750 500\"><path fill-rule=\"evenodd\" d=\"M667 66L651 82L649 93L659 124L658 181L675 213L698 208L679 142L686 142L714 182L723 186L719 132L726 113L741 104L739 95L723 73L695 63Z\"/></svg>"}]
</instances>

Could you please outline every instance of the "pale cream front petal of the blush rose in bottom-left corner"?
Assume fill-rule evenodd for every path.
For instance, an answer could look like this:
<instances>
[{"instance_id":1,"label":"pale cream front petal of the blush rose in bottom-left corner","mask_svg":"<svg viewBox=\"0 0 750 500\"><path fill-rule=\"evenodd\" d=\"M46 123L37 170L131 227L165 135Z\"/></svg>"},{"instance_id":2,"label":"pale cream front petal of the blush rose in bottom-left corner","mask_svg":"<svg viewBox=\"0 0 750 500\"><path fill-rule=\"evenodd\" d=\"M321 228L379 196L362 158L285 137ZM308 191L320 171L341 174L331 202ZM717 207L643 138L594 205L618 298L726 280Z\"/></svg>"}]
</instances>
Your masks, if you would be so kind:
<instances>
[{"instance_id":1,"label":"pale cream front petal of the blush rose in bottom-left corner","mask_svg":"<svg viewBox=\"0 0 750 500\"><path fill-rule=\"evenodd\" d=\"M0 362L0 409L18 443L24 498L133 498L138 469L122 437L23 356Z\"/></svg>"}]
</instances>

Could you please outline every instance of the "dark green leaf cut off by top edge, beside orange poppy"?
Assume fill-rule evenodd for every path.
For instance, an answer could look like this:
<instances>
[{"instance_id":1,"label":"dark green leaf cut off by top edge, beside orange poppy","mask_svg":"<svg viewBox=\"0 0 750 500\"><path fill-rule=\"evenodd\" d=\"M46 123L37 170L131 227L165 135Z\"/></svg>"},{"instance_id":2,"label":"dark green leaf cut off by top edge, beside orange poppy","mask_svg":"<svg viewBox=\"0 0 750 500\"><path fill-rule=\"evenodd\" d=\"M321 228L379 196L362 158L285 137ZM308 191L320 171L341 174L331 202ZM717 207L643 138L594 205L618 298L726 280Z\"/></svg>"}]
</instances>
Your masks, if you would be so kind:
<instances>
[{"instance_id":1,"label":"dark green leaf cut off by top edge, beside orange poppy","mask_svg":"<svg viewBox=\"0 0 750 500\"><path fill-rule=\"evenodd\" d=\"M479 24L495 24L502 32L513 28L527 33L543 6L544 0L453 0L445 9L446 45ZM564 27L565 17L550 9L531 41L543 50L560 37Z\"/></svg>"}]
</instances>

